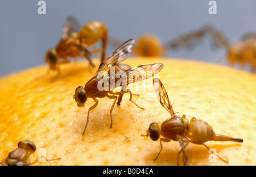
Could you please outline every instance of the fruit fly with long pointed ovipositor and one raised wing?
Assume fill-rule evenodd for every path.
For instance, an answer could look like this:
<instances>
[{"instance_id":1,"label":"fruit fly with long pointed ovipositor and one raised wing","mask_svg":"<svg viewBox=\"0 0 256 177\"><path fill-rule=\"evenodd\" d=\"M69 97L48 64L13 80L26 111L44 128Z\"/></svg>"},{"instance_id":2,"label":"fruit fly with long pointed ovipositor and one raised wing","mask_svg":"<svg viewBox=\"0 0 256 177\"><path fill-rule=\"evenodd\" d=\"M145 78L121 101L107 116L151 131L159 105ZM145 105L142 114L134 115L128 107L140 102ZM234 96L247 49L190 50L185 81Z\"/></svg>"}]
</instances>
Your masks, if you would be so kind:
<instances>
[{"instance_id":1,"label":"fruit fly with long pointed ovipositor and one raised wing","mask_svg":"<svg viewBox=\"0 0 256 177\"><path fill-rule=\"evenodd\" d=\"M180 155L181 152L183 153L184 165L188 165L187 155L185 154L185 146L187 146L189 142L193 144L204 145L208 150L210 150L210 148L205 145L205 142L207 141L243 142L242 138L233 138L221 134L216 134L212 127L210 127L210 125L203 120L192 117L191 121L189 122L185 115L181 117L178 116L178 114L175 113L174 109L172 108L172 104L168 98L163 83L158 78L154 78L153 85L160 104L171 114L171 117L164 121L162 124L157 122L151 123L146 132L147 134L142 134L142 136L149 136L153 141L158 140L162 136L160 138L161 149L154 161L159 157L159 154L163 149L162 141L170 142L173 140L179 142L181 150L178 154ZM228 161L225 161L217 154L213 154L220 158L222 161L228 163ZM179 165L179 155L177 165Z\"/></svg>"}]
</instances>

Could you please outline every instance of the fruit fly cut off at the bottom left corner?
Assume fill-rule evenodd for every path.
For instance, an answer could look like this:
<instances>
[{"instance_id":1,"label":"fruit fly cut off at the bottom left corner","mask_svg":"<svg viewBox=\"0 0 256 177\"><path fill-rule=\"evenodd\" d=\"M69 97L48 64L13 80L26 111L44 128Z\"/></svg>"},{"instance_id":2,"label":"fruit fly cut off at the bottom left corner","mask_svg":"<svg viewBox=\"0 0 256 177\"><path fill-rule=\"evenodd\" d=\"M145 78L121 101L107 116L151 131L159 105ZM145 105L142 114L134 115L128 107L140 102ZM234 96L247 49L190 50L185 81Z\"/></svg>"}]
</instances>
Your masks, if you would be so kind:
<instances>
[{"instance_id":1,"label":"fruit fly cut off at the bottom left corner","mask_svg":"<svg viewBox=\"0 0 256 177\"><path fill-rule=\"evenodd\" d=\"M8 165L8 166L27 166L33 165L38 162L38 158L36 158L33 162L30 162L30 155L36 151L36 146L34 142L29 140L23 140L18 143L18 148L11 151L5 159L3 159L0 164ZM46 158L46 157L44 157ZM47 159L46 161L55 161L60 158L55 159Z\"/></svg>"}]
</instances>

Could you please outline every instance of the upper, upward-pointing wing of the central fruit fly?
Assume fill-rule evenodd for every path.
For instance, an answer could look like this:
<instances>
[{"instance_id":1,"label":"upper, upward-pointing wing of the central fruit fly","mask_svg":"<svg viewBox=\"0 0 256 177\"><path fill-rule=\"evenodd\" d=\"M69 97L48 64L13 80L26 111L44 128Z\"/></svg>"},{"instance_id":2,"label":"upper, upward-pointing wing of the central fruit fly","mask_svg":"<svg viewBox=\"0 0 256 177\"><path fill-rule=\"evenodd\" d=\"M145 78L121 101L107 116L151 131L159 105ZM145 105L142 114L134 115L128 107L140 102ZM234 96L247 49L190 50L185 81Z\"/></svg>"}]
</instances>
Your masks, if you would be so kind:
<instances>
[{"instance_id":1,"label":"upper, upward-pointing wing of the central fruit fly","mask_svg":"<svg viewBox=\"0 0 256 177\"><path fill-rule=\"evenodd\" d=\"M130 39L120 45L104 62L102 62L94 74L97 75L99 71L108 71L111 66L121 64L121 62L125 61L127 57L129 57L131 53L131 48L134 45L134 39Z\"/></svg>"}]
</instances>

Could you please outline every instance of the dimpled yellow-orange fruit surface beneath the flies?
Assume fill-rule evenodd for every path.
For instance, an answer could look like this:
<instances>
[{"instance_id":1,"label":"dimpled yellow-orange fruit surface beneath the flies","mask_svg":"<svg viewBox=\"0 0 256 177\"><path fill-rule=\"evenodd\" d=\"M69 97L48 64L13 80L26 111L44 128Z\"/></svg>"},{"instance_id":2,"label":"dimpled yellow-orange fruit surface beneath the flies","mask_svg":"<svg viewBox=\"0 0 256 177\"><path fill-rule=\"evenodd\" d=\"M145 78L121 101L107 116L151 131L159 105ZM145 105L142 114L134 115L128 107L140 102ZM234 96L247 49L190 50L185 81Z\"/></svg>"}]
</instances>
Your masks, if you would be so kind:
<instances>
[{"instance_id":1,"label":"dimpled yellow-orange fruit surface beneath the flies","mask_svg":"<svg viewBox=\"0 0 256 177\"><path fill-rule=\"evenodd\" d=\"M175 112L187 115L189 120L194 116L206 121L217 134L243 138L243 143L205 144L229 161L228 165L256 165L256 75L176 58L129 57L124 63L134 67L156 62L164 64L159 78ZM51 82L54 71L38 78L47 69L46 65L38 66L0 79L0 159L20 140L31 140L37 147L32 161L42 153L48 159L61 158L35 165L177 165L177 141L163 142L162 153L153 161L160 150L159 140L141 136L152 121L162 122L170 117L152 85L146 90L143 86L131 89L139 94L133 95L133 100L144 111L129 102L129 94L123 96L121 105L113 109L112 129L109 111L113 99L98 99L82 136L88 108L94 101L88 98L85 107L79 108L73 95L95 70L90 72L87 61L63 64L60 76ZM189 144L186 153L189 165L226 165L203 145Z\"/></svg>"}]
</instances>

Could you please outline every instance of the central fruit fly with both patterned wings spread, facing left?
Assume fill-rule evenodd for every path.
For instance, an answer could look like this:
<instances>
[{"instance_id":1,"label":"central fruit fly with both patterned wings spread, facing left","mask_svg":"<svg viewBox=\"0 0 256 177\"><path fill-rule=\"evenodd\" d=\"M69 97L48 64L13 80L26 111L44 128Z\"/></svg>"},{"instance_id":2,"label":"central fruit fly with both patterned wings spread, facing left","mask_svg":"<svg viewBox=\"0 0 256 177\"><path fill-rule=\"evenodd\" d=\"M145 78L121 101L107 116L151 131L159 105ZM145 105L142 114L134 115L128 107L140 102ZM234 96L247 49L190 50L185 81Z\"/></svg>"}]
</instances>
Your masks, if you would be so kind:
<instances>
[{"instance_id":1,"label":"central fruit fly with both patterned wings spread, facing left","mask_svg":"<svg viewBox=\"0 0 256 177\"><path fill-rule=\"evenodd\" d=\"M76 88L73 98L76 100L78 107L83 107L88 98L92 98L95 102L95 104L88 110L86 125L82 134L85 133L89 122L89 112L98 105L97 98L108 97L109 99L114 99L110 109L110 128L112 128L112 111L115 102L118 101L118 105L121 103L123 94L129 93L129 101L139 107L138 104L133 102L131 91L126 89L127 85L129 83L150 78L163 69L163 64L139 65L134 68L131 68L131 66L127 64L121 64L127 57L129 57L133 45L134 40L131 39L119 46L100 64L96 74L94 74L94 76L86 83L85 87L79 86ZM102 87L102 85L104 85L104 87ZM119 86L122 87L121 91L113 92L114 88ZM139 108L144 109L142 107Z\"/></svg>"}]
</instances>

